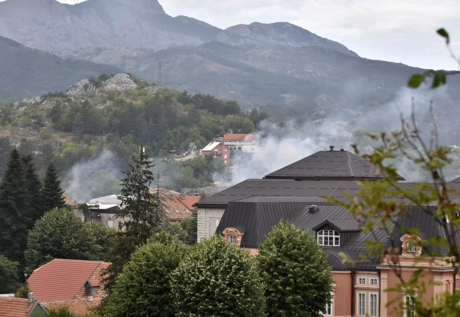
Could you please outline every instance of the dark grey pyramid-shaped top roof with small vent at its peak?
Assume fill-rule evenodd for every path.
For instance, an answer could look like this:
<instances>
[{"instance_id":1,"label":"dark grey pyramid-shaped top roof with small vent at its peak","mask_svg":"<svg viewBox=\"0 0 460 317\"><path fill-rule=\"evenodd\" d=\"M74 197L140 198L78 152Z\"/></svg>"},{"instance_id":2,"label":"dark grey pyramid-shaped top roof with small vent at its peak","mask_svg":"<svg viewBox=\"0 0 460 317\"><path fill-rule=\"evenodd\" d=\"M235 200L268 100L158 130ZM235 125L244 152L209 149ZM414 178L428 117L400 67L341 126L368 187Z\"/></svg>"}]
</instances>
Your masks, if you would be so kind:
<instances>
[{"instance_id":1,"label":"dark grey pyramid-shaped top roof with small vent at its peak","mask_svg":"<svg viewBox=\"0 0 460 317\"><path fill-rule=\"evenodd\" d=\"M382 179L376 166L345 150L319 151L265 175L268 179L362 180ZM398 176L399 180L404 177Z\"/></svg>"}]
</instances>

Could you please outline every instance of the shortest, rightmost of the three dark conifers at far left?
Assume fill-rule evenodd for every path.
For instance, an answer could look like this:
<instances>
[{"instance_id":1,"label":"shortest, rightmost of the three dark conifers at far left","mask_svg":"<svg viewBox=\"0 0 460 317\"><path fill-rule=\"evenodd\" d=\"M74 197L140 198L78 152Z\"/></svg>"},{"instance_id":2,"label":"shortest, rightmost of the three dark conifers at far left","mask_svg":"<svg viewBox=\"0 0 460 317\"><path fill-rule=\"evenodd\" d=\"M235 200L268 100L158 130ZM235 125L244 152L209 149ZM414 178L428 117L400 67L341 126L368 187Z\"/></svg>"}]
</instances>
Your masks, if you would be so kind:
<instances>
[{"instance_id":1,"label":"shortest, rightmost of the three dark conifers at far left","mask_svg":"<svg viewBox=\"0 0 460 317\"><path fill-rule=\"evenodd\" d=\"M62 197L64 191L61 188L61 182L57 177L57 171L53 163L48 165L47 173L43 178L43 210L50 211L53 208L63 208L65 200Z\"/></svg>"}]
</instances>

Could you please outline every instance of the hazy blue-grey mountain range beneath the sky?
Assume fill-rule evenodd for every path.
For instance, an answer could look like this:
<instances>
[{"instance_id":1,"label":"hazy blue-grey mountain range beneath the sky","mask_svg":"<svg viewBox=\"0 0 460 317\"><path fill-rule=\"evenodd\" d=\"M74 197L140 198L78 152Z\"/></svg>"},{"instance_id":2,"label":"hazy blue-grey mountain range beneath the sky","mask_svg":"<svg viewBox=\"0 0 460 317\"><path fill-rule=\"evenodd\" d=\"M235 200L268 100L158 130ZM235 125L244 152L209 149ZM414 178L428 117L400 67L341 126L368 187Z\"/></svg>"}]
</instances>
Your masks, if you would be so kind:
<instances>
[{"instance_id":1,"label":"hazy blue-grey mountain range beneath the sky","mask_svg":"<svg viewBox=\"0 0 460 317\"><path fill-rule=\"evenodd\" d=\"M151 82L158 79L161 61L163 84L169 87L235 99L243 106L266 105L275 117L385 104L410 75L422 71L359 57L287 22L222 30L192 17L172 17L156 0L77 5L7 0L0 2L0 35L66 60L118 67ZM458 89L448 94L460 100Z\"/></svg>"}]
</instances>

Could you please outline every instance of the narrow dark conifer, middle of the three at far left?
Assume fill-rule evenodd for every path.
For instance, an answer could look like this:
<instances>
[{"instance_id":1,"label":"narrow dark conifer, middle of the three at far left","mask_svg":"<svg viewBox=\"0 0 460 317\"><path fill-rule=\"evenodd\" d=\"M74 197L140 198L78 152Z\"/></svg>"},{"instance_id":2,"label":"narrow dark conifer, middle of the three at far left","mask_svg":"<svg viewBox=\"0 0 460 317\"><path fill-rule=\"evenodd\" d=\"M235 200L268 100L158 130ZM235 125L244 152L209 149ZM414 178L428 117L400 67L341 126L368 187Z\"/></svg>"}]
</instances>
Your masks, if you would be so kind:
<instances>
[{"instance_id":1,"label":"narrow dark conifer, middle of the three at far left","mask_svg":"<svg viewBox=\"0 0 460 317\"><path fill-rule=\"evenodd\" d=\"M31 220L28 228L32 229L35 221L43 216L43 197L41 191L41 181L35 170L33 157L31 154L22 155L22 168L24 168L24 176L26 180L27 193L30 206L30 214L27 217Z\"/></svg>"}]
</instances>

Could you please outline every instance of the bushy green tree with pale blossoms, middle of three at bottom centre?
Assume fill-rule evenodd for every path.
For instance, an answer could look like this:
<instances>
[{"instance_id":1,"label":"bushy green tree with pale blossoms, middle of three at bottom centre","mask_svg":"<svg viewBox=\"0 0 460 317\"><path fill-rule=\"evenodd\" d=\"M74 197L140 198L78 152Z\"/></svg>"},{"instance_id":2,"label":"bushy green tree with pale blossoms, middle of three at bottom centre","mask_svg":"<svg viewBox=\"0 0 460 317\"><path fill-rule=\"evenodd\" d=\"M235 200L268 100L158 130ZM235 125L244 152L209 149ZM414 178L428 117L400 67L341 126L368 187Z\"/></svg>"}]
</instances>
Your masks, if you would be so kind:
<instances>
[{"instance_id":1,"label":"bushy green tree with pale blossoms, middle of three at bottom centre","mask_svg":"<svg viewBox=\"0 0 460 317\"><path fill-rule=\"evenodd\" d=\"M256 259L223 237L192 247L171 278L178 316L262 316L263 284Z\"/></svg>"}]
</instances>

